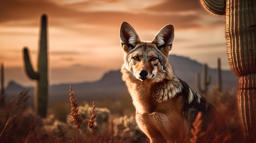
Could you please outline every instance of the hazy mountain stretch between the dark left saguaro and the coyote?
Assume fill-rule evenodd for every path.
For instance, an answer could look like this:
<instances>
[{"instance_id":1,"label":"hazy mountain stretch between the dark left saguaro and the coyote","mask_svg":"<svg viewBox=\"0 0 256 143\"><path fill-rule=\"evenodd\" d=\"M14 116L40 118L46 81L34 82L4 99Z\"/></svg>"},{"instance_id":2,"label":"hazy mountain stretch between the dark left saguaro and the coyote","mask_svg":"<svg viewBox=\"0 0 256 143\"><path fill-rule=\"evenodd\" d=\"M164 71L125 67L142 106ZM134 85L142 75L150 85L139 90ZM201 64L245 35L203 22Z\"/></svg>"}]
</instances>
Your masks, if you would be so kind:
<instances>
[{"instance_id":1,"label":"hazy mountain stretch between the dark left saguaro and the coyote","mask_svg":"<svg viewBox=\"0 0 256 143\"><path fill-rule=\"evenodd\" d=\"M69 94L69 89L70 84L50 86L49 95L54 95L50 99L62 97L68 100L69 96L66 95ZM90 101L117 98L127 92L120 70L109 71L99 81L72 84L72 90L77 100Z\"/></svg>"}]
</instances>

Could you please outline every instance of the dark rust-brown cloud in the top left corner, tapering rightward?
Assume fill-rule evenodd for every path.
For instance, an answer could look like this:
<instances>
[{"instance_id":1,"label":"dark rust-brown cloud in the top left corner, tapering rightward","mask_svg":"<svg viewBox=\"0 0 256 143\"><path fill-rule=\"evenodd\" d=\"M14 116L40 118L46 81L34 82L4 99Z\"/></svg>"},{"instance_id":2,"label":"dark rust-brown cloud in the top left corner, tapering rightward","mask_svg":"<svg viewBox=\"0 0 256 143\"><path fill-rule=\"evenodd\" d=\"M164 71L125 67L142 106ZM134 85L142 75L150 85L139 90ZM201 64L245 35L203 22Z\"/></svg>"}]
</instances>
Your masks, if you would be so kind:
<instances>
[{"instance_id":1,"label":"dark rust-brown cloud in the top left corner, tapering rightward","mask_svg":"<svg viewBox=\"0 0 256 143\"><path fill-rule=\"evenodd\" d=\"M29 26L37 26L39 15L43 12L55 18L72 17L72 15L79 14L79 12L47 0L1 0L0 12L4 13L0 17L0 23L29 21Z\"/></svg>"}]
</instances>

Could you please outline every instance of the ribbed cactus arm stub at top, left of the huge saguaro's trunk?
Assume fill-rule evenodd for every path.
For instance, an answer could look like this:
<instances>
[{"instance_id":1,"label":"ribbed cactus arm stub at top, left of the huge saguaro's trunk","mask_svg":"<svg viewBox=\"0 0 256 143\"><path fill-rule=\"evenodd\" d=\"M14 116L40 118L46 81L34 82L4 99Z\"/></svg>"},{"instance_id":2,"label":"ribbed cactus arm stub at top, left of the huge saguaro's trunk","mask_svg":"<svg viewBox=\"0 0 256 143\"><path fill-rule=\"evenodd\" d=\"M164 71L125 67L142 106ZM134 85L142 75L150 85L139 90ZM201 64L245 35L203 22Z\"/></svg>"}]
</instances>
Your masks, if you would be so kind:
<instances>
[{"instance_id":1,"label":"ribbed cactus arm stub at top, left of the huge saguaro's trunk","mask_svg":"<svg viewBox=\"0 0 256 143\"><path fill-rule=\"evenodd\" d=\"M200 3L211 13L225 15L226 0L200 0Z\"/></svg>"}]
</instances>

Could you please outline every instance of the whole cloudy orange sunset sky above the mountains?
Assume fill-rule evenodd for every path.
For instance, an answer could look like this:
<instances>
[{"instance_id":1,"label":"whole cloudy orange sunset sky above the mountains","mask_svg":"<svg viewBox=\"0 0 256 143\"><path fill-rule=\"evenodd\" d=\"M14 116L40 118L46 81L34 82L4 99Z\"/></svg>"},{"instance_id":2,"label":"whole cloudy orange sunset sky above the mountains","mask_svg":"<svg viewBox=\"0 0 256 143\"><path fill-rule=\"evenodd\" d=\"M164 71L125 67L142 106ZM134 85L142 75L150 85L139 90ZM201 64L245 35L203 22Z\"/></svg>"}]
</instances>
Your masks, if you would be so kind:
<instances>
[{"instance_id":1,"label":"whole cloudy orange sunset sky above the mountains","mask_svg":"<svg viewBox=\"0 0 256 143\"><path fill-rule=\"evenodd\" d=\"M119 27L130 23L141 40L152 40L166 24L175 38L170 54L229 69L225 17L210 15L197 0L1 0L0 62L5 85L34 85L24 70L22 48L37 66L39 15L49 15L49 84L94 81L123 63ZM175 69L174 69L175 70ZM181 77L182 78L182 77Z\"/></svg>"}]
</instances>

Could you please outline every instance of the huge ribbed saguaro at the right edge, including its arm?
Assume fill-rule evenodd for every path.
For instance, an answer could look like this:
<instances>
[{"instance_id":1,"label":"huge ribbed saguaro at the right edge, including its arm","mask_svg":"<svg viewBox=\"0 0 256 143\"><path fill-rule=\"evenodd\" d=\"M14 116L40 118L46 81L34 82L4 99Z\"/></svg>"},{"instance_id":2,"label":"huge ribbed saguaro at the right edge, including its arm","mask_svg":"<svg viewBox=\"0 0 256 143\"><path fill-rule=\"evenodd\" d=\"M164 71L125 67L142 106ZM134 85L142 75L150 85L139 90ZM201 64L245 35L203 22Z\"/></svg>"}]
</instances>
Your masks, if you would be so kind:
<instances>
[{"instance_id":1,"label":"huge ribbed saguaro at the right edge, including its arm","mask_svg":"<svg viewBox=\"0 0 256 143\"><path fill-rule=\"evenodd\" d=\"M256 141L256 0L200 0L208 11L226 15L229 64L239 78L237 102L243 136Z\"/></svg>"}]
</instances>

